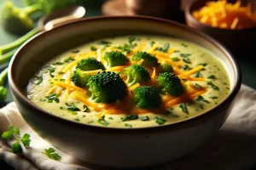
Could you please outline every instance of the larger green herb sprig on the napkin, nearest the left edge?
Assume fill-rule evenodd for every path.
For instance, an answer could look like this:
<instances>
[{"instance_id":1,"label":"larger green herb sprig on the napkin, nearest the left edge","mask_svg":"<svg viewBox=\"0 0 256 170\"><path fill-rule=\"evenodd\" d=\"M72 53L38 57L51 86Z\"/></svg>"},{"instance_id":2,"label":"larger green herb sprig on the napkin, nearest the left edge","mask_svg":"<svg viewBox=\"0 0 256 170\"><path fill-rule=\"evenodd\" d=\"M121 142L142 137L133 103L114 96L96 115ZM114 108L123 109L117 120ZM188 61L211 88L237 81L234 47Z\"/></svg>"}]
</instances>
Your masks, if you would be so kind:
<instances>
[{"instance_id":1,"label":"larger green herb sprig on the napkin, nearest the left edge","mask_svg":"<svg viewBox=\"0 0 256 170\"><path fill-rule=\"evenodd\" d=\"M15 154L20 153L22 151L22 146L20 144L20 142L25 146L28 147L31 139L30 139L30 134L25 133L22 138L20 139L20 129L18 127L14 127L14 126L9 126L9 131L5 131L2 134L2 139L10 139L10 138L14 138L15 139L15 143L12 144L12 148L11 151Z\"/></svg>"}]
</instances>

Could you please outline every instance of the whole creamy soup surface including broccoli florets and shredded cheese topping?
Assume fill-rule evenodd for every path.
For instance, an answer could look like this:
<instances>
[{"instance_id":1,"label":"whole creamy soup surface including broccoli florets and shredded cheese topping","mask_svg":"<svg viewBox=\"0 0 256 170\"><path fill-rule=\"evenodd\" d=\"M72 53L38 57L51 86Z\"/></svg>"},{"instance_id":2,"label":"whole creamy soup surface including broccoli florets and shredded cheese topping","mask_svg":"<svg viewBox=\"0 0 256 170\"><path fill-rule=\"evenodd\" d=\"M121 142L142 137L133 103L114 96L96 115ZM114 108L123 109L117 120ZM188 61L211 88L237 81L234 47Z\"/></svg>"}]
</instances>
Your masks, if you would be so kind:
<instances>
[{"instance_id":1,"label":"whole creamy soup surface including broccoli florets and shredded cheese topping","mask_svg":"<svg viewBox=\"0 0 256 170\"><path fill-rule=\"evenodd\" d=\"M91 62L84 66L86 59ZM97 61L102 64L91 66ZM135 67L127 69L131 65L143 74L137 75ZM96 82L107 73L104 68L115 72L122 84L109 82L113 87L108 88L116 88L112 94ZM80 73L86 76L78 77ZM150 87L149 92L145 87ZM228 74L212 52L161 36L111 37L86 43L50 60L27 86L28 99L51 114L85 124L127 128L181 122L210 110L229 93Z\"/></svg>"}]
</instances>

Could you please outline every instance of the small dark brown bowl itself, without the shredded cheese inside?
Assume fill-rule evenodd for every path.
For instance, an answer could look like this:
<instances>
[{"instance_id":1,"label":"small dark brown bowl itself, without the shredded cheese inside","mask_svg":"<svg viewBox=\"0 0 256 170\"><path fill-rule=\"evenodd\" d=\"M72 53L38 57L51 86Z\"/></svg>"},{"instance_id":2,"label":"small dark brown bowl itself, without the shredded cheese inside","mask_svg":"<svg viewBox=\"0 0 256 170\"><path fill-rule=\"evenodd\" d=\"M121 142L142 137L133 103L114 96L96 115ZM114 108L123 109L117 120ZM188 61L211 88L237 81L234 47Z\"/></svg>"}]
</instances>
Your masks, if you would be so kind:
<instances>
[{"instance_id":1,"label":"small dark brown bowl itself, without the shredded cheese inside","mask_svg":"<svg viewBox=\"0 0 256 170\"><path fill-rule=\"evenodd\" d=\"M229 48L232 52L240 51L249 46L253 47L256 44L256 27L242 30L230 30L221 29L212 26L202 24L196 20L192 12L206 5L209 0L198 0L193 3L189 3L185 7L185 19L188 26L194 27L195 29L205 32L208 35L216 38L219 42L222 42L224 46ZM234 3L234 1L230 1ZM235 1L236 2L236 1ZM256 11L256 1L244 0L241 5L252 3L252 12Z\"/></svg>"}]
</instances>

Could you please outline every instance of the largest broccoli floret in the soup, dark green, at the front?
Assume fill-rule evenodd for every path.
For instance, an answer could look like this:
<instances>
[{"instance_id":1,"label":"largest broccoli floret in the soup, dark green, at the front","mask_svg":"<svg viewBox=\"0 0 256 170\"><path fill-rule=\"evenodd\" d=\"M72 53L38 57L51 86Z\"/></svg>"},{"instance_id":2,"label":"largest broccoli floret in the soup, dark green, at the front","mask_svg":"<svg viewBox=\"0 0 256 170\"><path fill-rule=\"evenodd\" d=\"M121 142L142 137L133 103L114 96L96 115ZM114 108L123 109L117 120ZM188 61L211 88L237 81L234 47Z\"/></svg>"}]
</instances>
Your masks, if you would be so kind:
<instances>
[{"instance_id":1,"label":"largest broccoli floret in the soup, dark green, at the front","mask_svg":"<svg viewBox=\"0 0 256 170\"><path fill-rule=\"evenodd\" d=\"M89 91L90 99L101 103L113 103L117 99L123 101L127 94L125 82L119 77L119 74L111 71L98 72L90 77Z\"/></svg>"}]
</instances>

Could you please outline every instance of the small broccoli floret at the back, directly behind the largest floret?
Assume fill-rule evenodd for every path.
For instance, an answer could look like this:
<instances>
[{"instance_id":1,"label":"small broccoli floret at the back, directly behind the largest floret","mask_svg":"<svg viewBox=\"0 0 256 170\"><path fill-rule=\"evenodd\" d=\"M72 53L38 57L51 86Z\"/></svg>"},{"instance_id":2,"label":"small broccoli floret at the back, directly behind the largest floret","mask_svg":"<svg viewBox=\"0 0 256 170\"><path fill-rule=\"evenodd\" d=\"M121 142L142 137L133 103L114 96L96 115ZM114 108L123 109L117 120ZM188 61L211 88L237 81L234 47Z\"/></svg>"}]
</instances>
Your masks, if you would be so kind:
<instances>
[{"instance_id":1,"label":"small broccoli floret at the back, directly behind the largest floret","mask_svg":"<svg viewBox=\"0 0 256 170\"><path fill-rule=\"evenodd\" d=\"M126 65L129 62L129 59L119 51L111 51L106 52L104 55L104 59L106 59L108 66L118 66L118 65Z\"/></svg>"}]
</instances>

